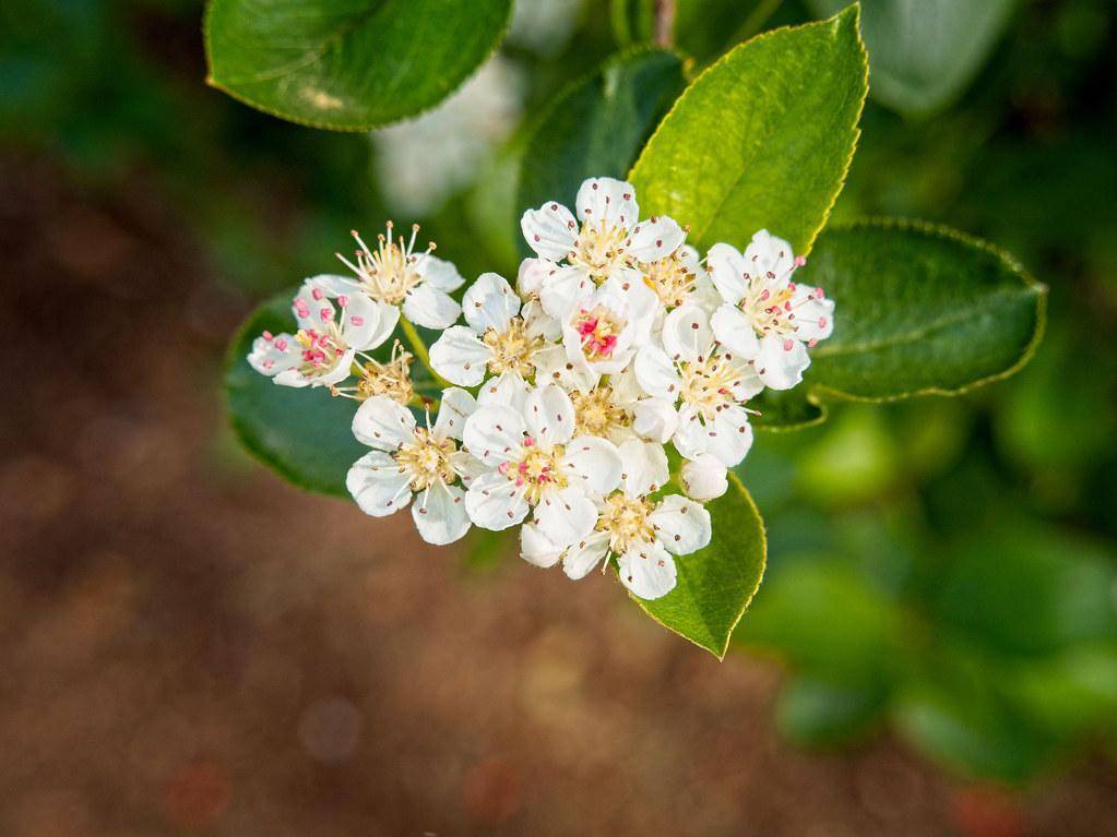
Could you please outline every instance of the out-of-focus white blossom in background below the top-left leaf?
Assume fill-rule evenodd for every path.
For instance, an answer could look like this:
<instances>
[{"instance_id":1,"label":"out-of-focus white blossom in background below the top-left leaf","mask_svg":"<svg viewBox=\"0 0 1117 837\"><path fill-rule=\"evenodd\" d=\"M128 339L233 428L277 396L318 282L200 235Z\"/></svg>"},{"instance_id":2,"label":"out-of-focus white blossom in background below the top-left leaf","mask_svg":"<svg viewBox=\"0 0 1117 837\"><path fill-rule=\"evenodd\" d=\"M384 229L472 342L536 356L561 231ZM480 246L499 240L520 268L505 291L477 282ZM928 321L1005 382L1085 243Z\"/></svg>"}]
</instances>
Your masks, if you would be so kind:
<instances>
[{"instance_id":1,"label":"out-of-focus white blossom in background below the top-left leaf","mask_svg":"<svg viewBox=\"0 0 1117 837\"><path fill-rule=\"evenodd\" d=\"M422 217L469 185L519 123L524 94L521 69L495 55L433 110L373 132L388 205Z\"/></svg>"}]
</instances>

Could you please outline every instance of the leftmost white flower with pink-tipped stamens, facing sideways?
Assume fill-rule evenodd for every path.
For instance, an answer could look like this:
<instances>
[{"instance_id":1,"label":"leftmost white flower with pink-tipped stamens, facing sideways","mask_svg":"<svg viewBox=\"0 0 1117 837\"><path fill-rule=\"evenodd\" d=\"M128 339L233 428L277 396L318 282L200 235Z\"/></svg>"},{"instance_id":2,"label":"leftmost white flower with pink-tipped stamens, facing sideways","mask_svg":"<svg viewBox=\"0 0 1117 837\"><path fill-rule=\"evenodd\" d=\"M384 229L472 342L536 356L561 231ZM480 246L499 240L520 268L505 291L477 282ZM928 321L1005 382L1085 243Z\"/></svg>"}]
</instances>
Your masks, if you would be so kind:
<instances>
[{"instance_id":1,"label":"leftmost white flower with pink-tipped stamens, facing sideways","mask_svg":"<svg viewBox=\"0 0 1117 837\"><path fill-rule=\"evenodd\" d=\"M334 386L347 378L359 352L389 338L399 310L361 295L340 295L337 306L308 279L292 304L295 335L265 331L252 343L248 363L284 386Z\"/></svg>"}]
</instances>

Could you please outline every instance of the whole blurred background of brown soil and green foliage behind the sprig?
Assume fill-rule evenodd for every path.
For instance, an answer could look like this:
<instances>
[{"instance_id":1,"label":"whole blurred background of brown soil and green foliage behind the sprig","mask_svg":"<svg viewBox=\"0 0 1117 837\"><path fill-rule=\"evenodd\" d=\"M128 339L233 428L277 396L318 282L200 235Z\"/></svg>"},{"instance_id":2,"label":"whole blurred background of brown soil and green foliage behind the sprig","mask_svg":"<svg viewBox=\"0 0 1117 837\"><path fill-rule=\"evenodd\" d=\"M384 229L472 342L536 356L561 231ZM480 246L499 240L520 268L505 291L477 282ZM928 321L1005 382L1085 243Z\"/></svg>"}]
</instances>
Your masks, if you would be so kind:
<instances>
[{"instance_id":1,"label":"whole blurred background of brown soil and green foliage behind the sprig","mask_svg":"<svg viewBox=\"0 0 1117 837\"><path fill-rule=\"evenodd\" d=\"M710 2L699 62L832 6ZM6 0L0 834L1117 834L1117 6L1005 8L949 102L870 102L834 219L995 241L1047 339L758 436L768 574L717 663L609 578L300 494L222 415L238 321L353 227L514 273L523 125L608 3L523 0L367 137L206 87L192 0Z\"/></svg>"}]
</instances>

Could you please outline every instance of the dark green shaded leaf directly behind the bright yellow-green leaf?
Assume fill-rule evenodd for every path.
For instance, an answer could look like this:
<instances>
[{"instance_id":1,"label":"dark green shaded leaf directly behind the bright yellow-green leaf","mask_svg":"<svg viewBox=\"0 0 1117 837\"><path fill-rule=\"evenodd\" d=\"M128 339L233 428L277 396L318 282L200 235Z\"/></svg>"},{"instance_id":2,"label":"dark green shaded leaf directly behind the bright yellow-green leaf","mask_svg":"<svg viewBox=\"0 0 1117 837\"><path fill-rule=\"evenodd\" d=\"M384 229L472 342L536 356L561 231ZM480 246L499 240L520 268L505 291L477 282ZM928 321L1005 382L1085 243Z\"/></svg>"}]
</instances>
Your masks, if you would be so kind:
<instances>
[{"instance_id":1,"label":"dark green shaded leaf directly behind the bright yellow-green leaf","mask_svg":"<svg viewBox=\"0 0 1117 837\"><path fill-rule=\"evenodd\" d=\"M567 87L527 142L519 211L546 201L573 206L586 177L623 177L685 84L678 55L638 48Z\"/></svg>"}]
</instances>

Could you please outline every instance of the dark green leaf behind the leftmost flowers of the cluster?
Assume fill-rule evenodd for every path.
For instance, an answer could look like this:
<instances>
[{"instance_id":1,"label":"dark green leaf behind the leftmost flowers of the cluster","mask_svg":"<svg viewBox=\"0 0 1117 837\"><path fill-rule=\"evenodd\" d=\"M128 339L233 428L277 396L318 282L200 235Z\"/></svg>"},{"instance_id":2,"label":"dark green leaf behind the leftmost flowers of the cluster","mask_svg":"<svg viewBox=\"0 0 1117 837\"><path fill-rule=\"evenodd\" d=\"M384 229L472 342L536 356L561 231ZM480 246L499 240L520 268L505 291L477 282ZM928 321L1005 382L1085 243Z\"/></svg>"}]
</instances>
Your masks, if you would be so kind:
<instances>
[{"instance_id":1,"label":"dark green leaf behind the leftmost flowers of the cluster","mask_svg":"<svg viewBox=\"0 0 1117 837\"><path fill-rule=\"evenodd\" d=\"M261 305L233 339L225 374L229 419L241 444L280 477L308 491L347 498L345 474L369 451L351 430L356 403L324 389L277 386L246 359L265 329L292 329L292 296Z\"/></svg>"}]
</instances>

